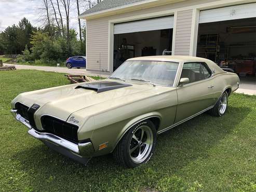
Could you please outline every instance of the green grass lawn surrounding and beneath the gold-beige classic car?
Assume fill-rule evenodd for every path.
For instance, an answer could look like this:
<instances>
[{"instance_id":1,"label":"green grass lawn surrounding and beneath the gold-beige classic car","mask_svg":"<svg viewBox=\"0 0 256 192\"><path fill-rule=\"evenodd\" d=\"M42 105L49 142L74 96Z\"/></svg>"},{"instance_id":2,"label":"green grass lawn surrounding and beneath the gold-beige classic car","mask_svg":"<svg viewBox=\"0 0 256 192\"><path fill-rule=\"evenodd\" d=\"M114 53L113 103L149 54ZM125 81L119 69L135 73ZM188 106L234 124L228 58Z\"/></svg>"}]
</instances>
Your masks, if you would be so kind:
<instances>
[{"instance_id":1,"label":"green grass lawn surrounding and beneath the gold-beige classic car","mask_svg":"<svg viewBox=\"0 0 256 192\"><path fill-rule=\"evenodd\" d=\"M9 112L17 94L65 84L59 73L0 72L0 191L256 191L256 97L233 94L223 117L202 114L159 135L139 168L119 167L112 155L85 167L29 136Z\"/></svg>"}]
</instances>

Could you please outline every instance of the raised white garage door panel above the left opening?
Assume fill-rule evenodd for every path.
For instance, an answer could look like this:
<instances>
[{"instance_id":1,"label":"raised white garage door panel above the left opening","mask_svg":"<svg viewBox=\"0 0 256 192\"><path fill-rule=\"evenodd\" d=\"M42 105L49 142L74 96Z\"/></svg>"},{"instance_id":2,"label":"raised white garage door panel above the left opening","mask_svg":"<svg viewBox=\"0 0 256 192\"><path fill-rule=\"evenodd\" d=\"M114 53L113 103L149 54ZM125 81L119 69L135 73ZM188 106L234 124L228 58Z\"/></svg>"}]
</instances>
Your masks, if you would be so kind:
<instances>
[{"instance_id":1,"label":"raised white garage door panel above the left opening","mask_svg":"<svg viewBox=\"0 0 256 192\"><path fill-rule=\"evenodd\" d=\"M115 24L114 34L172 29L173 22L173 16L170 16Z\"/></svg>"}]
</instances>

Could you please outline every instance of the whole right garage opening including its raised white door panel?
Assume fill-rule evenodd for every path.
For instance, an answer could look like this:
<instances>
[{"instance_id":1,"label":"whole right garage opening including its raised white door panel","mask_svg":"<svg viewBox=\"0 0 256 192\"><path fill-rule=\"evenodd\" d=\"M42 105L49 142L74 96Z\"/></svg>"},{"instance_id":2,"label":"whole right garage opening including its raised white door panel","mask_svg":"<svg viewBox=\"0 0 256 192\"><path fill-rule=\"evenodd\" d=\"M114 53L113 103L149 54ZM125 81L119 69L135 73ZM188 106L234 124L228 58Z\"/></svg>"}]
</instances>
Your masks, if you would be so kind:
<instances>
[{"instance_id":1,"label":"whole right garage opening including its raised white door panel","mask_svg":"<svg viewBox=\"0 0 256 192\"><path fill-rule=\"evenodd\" d=\"M200 12L197 56L255 80L256 4Z\"/></svg>"}]
</instances>

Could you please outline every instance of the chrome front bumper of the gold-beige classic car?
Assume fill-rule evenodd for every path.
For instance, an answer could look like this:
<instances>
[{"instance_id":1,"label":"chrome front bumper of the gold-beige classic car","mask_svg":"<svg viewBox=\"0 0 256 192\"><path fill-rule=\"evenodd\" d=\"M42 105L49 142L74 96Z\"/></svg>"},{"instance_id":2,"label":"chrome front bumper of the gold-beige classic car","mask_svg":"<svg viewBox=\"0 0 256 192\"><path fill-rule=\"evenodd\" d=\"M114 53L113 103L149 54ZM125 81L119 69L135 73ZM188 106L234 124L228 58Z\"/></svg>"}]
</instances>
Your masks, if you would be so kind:
<instances>
[{"instance_id":1,"label":"chrome front bumper of the gold-beige classic car","mask_svg":"<svg viewBox=\"0 0 256 192\"><path fill-rule=\"evenodd\" d=\"M28 133L30 135L38 140L43 141L43 143L50 142L57 145L58 148L62 147L64 149L70 150L74 155L77 155L79 157L90 158L94 152L91 142L75 144L51 133L38 132L32 128L28 120L17 114L17 109L11 109L11 114L16 118L16 120L22 122L22 124L29 128ZM56 147L54 148L56 150Z\"/></svg>"}]
</instances>

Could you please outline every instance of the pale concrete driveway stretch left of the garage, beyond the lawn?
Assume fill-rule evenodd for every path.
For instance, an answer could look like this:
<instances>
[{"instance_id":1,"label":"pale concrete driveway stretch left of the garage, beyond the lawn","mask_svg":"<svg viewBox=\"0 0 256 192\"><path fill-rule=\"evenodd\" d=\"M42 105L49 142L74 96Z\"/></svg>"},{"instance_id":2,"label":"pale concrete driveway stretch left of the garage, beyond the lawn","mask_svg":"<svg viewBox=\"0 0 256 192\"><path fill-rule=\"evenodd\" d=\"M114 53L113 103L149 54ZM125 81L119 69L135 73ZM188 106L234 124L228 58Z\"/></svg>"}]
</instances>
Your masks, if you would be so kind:
<instances>
[{"instance_id":1,"label":"pale concrete driveway stretch left of the garage, beyond the lawn","mask_svg":"<svg viewBox=\"0 0 256 192\"><path fill-rule=\"evenodd\" d=\"M4 65L14 65L17 70L39 70L39 71L49 71L56 73L66 73L72 75L89 75L89 76L102 76L108 77L110 73L99 73L87 71L85 68L66 68L66 67L55 67L55 66L33 66L33 65L17 65L17 64L6 64Z\"/></svg>"}]
</instances>

